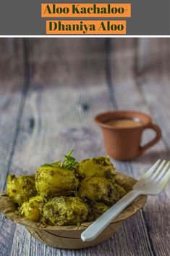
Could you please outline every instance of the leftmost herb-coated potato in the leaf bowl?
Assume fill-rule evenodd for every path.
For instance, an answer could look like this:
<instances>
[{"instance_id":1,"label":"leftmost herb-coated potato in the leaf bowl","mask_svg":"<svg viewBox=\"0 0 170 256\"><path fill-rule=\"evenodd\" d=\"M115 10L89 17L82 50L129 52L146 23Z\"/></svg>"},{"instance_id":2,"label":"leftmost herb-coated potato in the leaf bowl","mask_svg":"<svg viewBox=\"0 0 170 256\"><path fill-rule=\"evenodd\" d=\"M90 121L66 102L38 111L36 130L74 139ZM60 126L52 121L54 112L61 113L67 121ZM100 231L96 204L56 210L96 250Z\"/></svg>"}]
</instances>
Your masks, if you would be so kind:
<instances>
[{"instance_id":1,"label":"leftmost herb-coated potato in the leaf bowl","mask_svg":"<svg viewBox=\"0 0 170 256\"><path fill-rule=\"evenodd\" d=\"M24 175L16 177L9 174L7 177L7 194L14 202L21 205L37 194L35 177Z\"/></svg>"}]
</instances>

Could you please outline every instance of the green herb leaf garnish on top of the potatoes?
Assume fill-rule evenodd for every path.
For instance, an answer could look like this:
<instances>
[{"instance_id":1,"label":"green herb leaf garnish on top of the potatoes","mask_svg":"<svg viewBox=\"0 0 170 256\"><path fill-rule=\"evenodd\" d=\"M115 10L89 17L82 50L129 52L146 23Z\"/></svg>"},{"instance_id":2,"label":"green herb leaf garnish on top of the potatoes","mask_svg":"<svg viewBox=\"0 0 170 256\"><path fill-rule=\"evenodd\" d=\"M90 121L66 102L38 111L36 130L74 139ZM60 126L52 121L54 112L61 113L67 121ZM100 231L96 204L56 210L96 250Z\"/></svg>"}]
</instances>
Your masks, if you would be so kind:
<instances>
[{"instance_id":1,"label":"green herb leaf garnish on top of the potatoes","mask_svg":"<svg viewBox=\"0 0 170 256\"><path fill-rule=\"evenodd\" d=\"M74 150L70 150L65 156L64 156L64 161L61 162L52 162L51 164L44 164L41 165L41 167L54 167L54 166L58 166L61 168L65 168L65 169L69 169L72 168L74 165L77 165L77 160L75 160L75 157L72 157L71 154Z\"/></svg>"}]
</instances>

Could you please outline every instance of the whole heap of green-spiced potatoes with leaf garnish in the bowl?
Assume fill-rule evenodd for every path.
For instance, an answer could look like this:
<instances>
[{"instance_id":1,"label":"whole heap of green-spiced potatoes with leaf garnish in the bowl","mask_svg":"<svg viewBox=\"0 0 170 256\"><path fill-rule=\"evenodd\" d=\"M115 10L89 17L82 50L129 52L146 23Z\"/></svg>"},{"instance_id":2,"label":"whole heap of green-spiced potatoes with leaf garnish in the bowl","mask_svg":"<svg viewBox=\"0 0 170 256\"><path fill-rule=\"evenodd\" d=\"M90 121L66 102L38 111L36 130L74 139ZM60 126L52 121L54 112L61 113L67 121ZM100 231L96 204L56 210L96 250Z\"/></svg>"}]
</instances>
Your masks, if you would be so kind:
<instances>
[{"instance_id":1,"label":"whole heap of green-spiced potatoes with leaf garnish in the bowl","mask_svg":"<svg viewBox=\"0 0 170 256\"><path fill-rule=\"evenodd\" d=\"M126 194L109 157L77 162L72 151L64 161L41 165L35 176L9 175L6 190L18 215L48 226L93 221Z\"/></svg>"}]
</instances>

